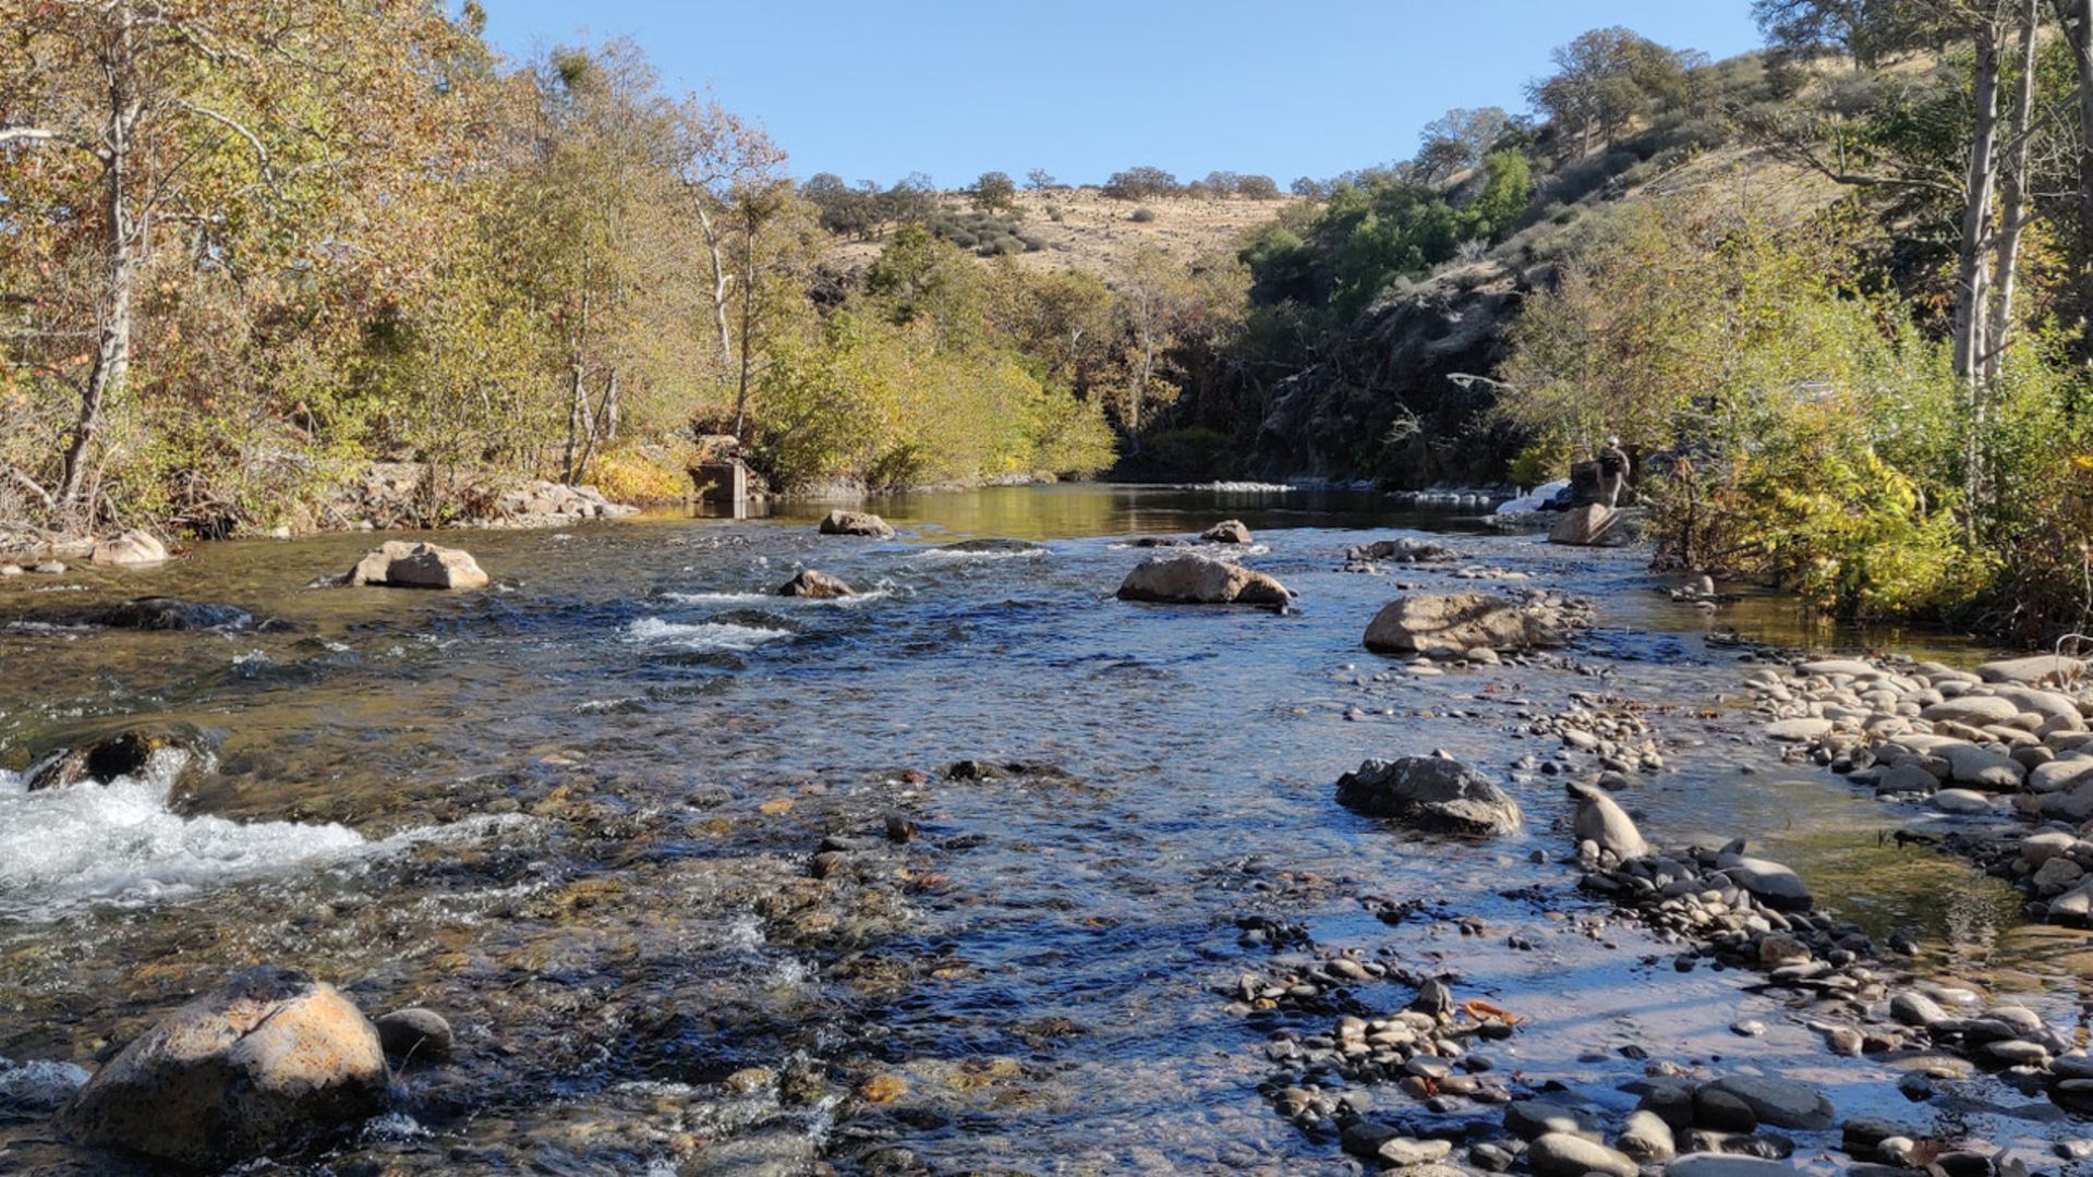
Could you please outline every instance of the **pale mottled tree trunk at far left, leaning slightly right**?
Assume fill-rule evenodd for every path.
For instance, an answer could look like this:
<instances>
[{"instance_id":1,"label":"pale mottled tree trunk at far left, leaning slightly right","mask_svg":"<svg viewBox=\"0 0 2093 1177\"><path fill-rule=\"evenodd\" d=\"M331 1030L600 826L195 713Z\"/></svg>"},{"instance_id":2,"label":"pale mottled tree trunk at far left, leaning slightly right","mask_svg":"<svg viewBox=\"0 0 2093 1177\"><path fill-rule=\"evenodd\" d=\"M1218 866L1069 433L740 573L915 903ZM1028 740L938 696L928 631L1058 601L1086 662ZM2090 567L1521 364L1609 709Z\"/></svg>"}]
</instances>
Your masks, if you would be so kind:
<instances>
[{"instance_id":1,"label":"pale mottled tree trunk at far left, leaning slightly right","mask_svg":"<svg viewBox=\"0 0 2093 1177\"><path fill-rule=\"evenodd\" d=\"M111 57L105 61L109 77L109 121L103 134L103 218L107 218L107 256L103 268L100 323L94 337L94 364L88 369L88 383L80 392L80 417L73 423L73 440L65 446L59 475L59 511L75 524L86 524L92 503L86 501L88 457L94 438L103 427L103 408L109 398L123 392L123 377L130 373L132 352L132 302L138 287L138 268L147 249L147 214L132 214L132 132L138 126L138 94L134 71L134 29L132 6L117 4L117 27Z\"/></svg>"}]
</instances>

